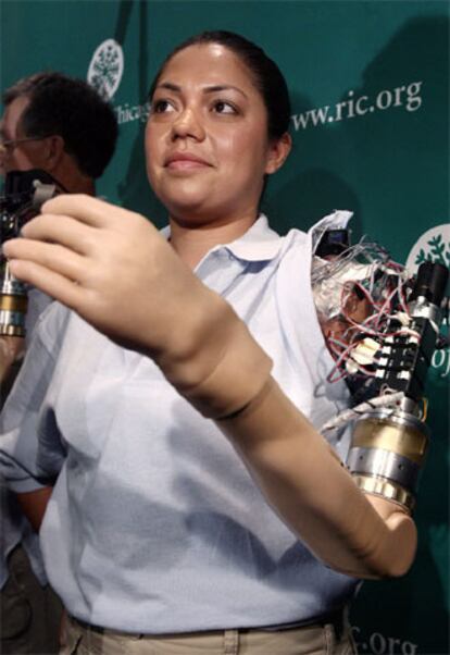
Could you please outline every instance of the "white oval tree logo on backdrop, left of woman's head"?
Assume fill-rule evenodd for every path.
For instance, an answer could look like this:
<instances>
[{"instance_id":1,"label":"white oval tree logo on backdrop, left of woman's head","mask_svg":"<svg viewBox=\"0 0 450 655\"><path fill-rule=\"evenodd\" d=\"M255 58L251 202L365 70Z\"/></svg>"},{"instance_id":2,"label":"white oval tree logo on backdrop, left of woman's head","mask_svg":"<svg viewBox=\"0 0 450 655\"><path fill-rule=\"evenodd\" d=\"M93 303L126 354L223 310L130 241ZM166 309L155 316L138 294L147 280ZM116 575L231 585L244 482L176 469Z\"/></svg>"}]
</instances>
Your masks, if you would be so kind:
<instances>
[{"instance_id":1,"label":"white oval tree logo on backdrop, left of woman's head","mask_svg":"<svg viewBox=\"0 0 450 655\"><path fill-rule=\"evenodd\" d=\"M114 39L107 39L90 60L87 81L99 94L110 100L121 84L124 72L124 53Z\"/></svg>"}]
</instances>

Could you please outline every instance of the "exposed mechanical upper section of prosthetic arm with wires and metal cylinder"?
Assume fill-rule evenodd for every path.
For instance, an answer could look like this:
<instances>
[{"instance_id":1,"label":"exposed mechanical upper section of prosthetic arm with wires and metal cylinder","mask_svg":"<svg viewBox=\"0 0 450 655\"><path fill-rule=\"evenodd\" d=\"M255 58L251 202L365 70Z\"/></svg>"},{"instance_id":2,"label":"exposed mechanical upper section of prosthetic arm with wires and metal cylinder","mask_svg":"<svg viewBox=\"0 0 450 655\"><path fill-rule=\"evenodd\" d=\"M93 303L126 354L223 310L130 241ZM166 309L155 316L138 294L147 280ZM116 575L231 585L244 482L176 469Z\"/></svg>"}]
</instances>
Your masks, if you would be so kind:
<instances>
[{"instance_id":1,"label":"exposed mechanical upper section of prosthetic arm with wires and metal cylinder","mask_svg":"<svg viewBox=\"0 0 450 655\"><path fill-rule=\"evenodd\" d=\"M435 349L447 345L439 325L448 270L425 261L412 277L365 240L347 239L339 254L334 232L346 231L324 234L324 252L313 258L313 294L336 359L330 381L347 381L353 407L322 431L352 422L347 465L358 486L412 511L428 445L426 375Z\"/></svg>"}]
</instances>

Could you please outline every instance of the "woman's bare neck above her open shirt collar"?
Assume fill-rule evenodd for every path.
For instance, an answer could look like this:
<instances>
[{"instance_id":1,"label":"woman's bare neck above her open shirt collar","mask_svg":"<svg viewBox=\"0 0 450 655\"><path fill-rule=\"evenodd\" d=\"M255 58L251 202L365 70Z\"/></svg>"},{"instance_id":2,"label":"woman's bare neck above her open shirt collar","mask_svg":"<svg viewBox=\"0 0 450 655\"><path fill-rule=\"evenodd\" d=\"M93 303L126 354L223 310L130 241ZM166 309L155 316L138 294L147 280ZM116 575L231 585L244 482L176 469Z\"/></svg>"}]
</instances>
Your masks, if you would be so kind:
<instances>
[{"instance_id":1,"label":"woman's bare neck above her open shirt collar","mask_svg":"<svg viewBox=\"0 0 450 655\"><path fill-rule=\"evenodd\" d=\"M171 218L171 245L183 261L193 270L211 248L239 238L246 234L255 219L252 213L229 223L192 226Z\"/></svg>"}]
</instances>

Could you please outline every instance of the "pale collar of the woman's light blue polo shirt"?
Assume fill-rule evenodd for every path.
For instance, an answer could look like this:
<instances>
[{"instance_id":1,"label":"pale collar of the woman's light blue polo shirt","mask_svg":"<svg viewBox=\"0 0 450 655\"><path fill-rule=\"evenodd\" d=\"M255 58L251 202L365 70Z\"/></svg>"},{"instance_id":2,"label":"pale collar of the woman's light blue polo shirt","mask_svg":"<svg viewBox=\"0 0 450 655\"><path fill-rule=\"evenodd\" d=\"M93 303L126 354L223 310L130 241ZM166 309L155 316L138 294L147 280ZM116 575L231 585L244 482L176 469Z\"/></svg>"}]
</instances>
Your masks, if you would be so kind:
<instances>
[{"instance_id":1,"label":"pale collar of the woman's light blue polo shirt","mask_svg":"<svg viewBox=\"0 0 450 655\"><path fill-rule=\"evenodd\" d=\"M168 239L171 236L170 225L163 227L161 234ZM283 239L284 237L268 226L267 217L261 213L246 234L229 244L221 244L211 248L208 255L225 249L243 261L270 261L279 252Z\"/></svg>"}]
</instances>

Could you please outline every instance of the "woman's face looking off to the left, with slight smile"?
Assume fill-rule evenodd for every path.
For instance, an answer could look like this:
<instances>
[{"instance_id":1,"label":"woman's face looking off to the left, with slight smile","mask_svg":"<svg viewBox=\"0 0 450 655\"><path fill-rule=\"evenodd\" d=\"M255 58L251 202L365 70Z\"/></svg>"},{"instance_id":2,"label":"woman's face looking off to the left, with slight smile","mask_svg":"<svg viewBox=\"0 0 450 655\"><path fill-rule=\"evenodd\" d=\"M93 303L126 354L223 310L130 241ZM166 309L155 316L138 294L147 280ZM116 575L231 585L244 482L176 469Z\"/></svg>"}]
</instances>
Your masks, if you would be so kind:
<instances>
[{"instance_id":1,"label":"woman's face looking off to the left, with slight smile","mask_svg":"<svg viewBox=\"0 0 450 655\"><path fill-rule=\"evenodd\" d=\"M171 217L188 224L255 217L277 147L251 74L218 44L176 53L158 82L146 128L147 173Z\"/></svg>"}]
</instances>

